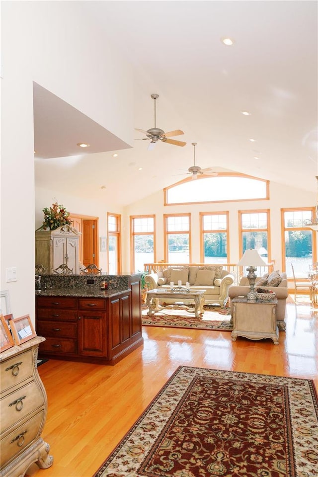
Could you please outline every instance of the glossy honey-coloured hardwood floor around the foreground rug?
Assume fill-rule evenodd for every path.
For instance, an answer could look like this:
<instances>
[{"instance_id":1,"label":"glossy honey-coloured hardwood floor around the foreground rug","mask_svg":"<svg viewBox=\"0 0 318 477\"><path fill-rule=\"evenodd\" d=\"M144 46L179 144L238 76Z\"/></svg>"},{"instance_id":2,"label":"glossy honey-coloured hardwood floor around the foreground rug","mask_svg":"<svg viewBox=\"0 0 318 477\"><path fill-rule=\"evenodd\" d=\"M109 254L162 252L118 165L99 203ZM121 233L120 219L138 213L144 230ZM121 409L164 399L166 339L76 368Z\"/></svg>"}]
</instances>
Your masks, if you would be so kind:
<instances>
[{"instance_id":1,"label":"glossy honey-coloured hardwood floor around the foreground rug","mask_svg":"<svg viewBox=\"0 0 318 477\"><path fill-rule=\"evenodd\" d=\"M233 342L229 331L144 327L144 345L116 366L40 366L49 403L42 437L54 463L27 475L91 477L180 365L313 379L318 389L318 307L288 301L279 345Z\"/></svg>"}]
</instances>

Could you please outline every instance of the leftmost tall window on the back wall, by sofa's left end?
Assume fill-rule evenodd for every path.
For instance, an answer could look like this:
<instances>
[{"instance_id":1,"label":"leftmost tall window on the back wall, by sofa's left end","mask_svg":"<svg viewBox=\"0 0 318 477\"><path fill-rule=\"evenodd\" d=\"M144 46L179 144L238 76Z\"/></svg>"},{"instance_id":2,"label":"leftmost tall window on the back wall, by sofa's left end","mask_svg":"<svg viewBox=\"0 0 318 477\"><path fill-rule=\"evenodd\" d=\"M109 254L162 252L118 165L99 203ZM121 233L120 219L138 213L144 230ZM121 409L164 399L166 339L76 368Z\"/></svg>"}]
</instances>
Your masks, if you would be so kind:
<instances>
[{"instance_id":1,"label":"leftmost tall window on the back wall, by sofa's left end","mask_svg":"<svg viewBox=\"0 0 318 477\"><path fill-rule=\"evenodd\" d=\"M155 256L155 216L130 217L131 269L142 272L145 263L153 263Z\"/></svg>"}]
</instances>

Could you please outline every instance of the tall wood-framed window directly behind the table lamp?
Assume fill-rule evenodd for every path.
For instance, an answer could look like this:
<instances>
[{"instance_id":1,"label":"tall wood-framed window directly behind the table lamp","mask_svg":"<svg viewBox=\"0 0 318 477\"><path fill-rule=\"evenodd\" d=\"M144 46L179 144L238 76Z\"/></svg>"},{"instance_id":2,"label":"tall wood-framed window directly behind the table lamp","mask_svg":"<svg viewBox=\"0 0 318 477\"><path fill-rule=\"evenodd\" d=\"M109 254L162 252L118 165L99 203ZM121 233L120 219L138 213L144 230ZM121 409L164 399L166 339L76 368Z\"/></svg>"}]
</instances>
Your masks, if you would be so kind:
<instances>
[{"instance_id":1,"label":"tall wood-framed window directly behind the table lamp","mask_svg":"<svg viewBox=\"0 0 318 477\"><path fill-rule=\"evenodd\" d=\"M270 257L270 211L245 210L239 211L239 249L241 256L247 248L258 251L265 263L271 262ZM262 273L257 269L257 275Z\"/></svg>"}]
</instances>

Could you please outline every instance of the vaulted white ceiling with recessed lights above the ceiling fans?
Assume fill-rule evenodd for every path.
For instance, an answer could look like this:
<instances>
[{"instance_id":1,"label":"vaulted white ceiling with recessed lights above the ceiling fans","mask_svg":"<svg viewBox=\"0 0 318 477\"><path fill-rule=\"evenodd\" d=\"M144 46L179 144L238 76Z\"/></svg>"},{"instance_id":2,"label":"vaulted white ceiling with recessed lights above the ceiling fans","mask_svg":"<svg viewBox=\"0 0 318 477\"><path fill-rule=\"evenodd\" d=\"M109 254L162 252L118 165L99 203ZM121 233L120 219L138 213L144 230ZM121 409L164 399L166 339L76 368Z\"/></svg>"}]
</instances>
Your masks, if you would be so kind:
<instances>
[{"instance_id":1,"label":"vaulted white ceiling with recessed lights above the ceiling fans","mask_svg":"<svg viewBox=\"0 0 318 477\"><path fill-rule=\"evenodd\" d=\"M69 116L67 105L45 92L37 101L43 88L35 85L35 149L38 144L42 151L35 162L38 186L67 188L90 199L106 193L103 197L126 205L186 177L179 174L193 165L196 142L196 164L202 168L316 190L316 1L81 3L133 65L136 141L124 143L79 111L70 109ZM225 46L223 37L234 45ZM157 127L184 131L175 139L186 141L185 147L159 142L148 151L149 141L138 140L144 136L134 128L154 127L152 93L159 94ZM60 114L54 141L57 121L43 127L49 116L44 98L51 101L52 115ZM90 152L81 155L73 141L79 125L92 138ZM74 157L66 161L68 156Z\"/></svg>"}]
</instances>

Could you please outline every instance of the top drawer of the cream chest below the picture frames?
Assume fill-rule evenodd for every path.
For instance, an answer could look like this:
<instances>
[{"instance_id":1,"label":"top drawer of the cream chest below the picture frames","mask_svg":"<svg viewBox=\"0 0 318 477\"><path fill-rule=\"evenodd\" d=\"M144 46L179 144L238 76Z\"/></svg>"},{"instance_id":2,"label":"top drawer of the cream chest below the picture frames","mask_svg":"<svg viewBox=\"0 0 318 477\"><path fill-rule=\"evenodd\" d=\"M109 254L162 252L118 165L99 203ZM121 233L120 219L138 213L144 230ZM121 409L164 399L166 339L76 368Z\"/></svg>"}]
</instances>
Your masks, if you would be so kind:
<instances>
[{"instance_id":1,"label":"top drawer of the cream chest below the picture frames","mask_svg":"<svg viewBox=\"0 0 318 477\"><path fill-rule=\"evenodd\" d=\"M32 349L29 349L25 353L17 354L1 363L1 394L6 389L33 376L32 362Z\"/></svg>"}]
</instances>

